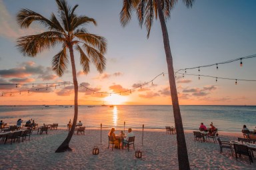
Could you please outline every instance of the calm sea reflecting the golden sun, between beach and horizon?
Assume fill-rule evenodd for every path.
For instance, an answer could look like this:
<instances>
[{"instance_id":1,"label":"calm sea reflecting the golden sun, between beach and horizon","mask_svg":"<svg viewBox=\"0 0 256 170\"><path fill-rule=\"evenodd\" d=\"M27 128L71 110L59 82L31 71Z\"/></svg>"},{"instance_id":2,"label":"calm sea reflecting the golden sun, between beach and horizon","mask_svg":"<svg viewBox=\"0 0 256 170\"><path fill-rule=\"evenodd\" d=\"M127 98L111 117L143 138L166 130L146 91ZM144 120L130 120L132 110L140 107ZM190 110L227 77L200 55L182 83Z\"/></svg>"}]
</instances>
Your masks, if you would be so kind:
<instances>
[{"instance_id":1,"label":"calm sea reflecting the golden sun, between beach and horizon","mask_svg":"<svg viewBox=\"0 0 256 170\"><path fill-rule=\"evenodd\" d=\"M58 123L67 126L73 120L73 106L0 106L0 120L16 124L29 119L38 124ZM241 131L245 124L249 129L256 126L256 106L181 106L181 116L185 129L198 129L203 122L213 125L219 131ZM172 106L79 106L78 120L88 128L125 127L163 129L174 126Z\"/></svg>"}]
</instances>

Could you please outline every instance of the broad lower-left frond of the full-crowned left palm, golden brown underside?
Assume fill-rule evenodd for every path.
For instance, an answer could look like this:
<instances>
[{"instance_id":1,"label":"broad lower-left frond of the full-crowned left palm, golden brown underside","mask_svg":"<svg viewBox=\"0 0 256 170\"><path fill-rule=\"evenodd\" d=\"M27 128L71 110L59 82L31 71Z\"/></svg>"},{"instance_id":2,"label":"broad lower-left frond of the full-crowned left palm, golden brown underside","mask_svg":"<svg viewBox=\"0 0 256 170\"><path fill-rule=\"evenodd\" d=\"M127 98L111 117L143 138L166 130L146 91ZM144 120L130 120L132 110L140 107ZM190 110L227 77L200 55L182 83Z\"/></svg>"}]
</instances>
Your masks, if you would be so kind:
<instances>
[{"instance_id":1,"label":"broad lower-left frond of the full-crowned left palm, golden brown underside","mask_svg":"<svg viewBox=\"0 0 256 170\"><path fill-rule=\"evenodd\" d=\"M65 41L63 35L55 31L47 31L39 35L29 35L17 39L17 48L24 56L36 56L45 49Z\"/></svg>"}]
</instances>

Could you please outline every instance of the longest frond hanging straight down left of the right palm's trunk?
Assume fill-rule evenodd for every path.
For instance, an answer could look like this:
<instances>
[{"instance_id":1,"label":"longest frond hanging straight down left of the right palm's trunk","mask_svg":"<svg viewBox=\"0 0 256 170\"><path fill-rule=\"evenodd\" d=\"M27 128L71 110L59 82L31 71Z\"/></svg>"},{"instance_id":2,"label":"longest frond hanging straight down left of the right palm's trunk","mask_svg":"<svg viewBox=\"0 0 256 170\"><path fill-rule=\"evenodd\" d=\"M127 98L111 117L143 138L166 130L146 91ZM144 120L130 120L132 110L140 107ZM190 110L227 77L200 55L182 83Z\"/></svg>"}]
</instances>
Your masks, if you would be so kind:
<instances>
[{"instance_id":1,"label":"longest frond hanging straight down left of the right palm's trunk","mask_svg":"<svg viewBox=\"0 0 256 170\"><path fill-rule=\"evenodd\" d=\"M147 2L147 5L145 7L145 26L147 28L147 39L149 38L151 26L153 24L153 18L154 18L154 5L153 5L153 0L149 0Z\"/></svg>"}]
</instances>

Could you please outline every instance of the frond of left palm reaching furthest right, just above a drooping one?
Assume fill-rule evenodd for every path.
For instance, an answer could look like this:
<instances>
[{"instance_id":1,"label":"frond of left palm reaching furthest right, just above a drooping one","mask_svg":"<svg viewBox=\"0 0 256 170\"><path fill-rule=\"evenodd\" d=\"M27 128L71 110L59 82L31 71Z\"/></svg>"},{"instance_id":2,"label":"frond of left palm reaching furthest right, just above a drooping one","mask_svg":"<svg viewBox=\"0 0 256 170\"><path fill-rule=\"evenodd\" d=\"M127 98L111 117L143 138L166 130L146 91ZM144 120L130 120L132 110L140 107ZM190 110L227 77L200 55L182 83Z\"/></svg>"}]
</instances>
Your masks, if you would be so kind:
<instances>
[{"instance_id":1,"label":"frond of left palm reaching furthest right, just above a drooping one","mask_svg":"<svg viewBox=\"0 0 256 170\"><path fill-rule=\"evenodd\" d=\"M93 48L99 50L101 54L105 54L107 50L107 40L104 37L83 32L74 33L74 36L89 46L93 46Z\"/></svg>"}]
</instances>

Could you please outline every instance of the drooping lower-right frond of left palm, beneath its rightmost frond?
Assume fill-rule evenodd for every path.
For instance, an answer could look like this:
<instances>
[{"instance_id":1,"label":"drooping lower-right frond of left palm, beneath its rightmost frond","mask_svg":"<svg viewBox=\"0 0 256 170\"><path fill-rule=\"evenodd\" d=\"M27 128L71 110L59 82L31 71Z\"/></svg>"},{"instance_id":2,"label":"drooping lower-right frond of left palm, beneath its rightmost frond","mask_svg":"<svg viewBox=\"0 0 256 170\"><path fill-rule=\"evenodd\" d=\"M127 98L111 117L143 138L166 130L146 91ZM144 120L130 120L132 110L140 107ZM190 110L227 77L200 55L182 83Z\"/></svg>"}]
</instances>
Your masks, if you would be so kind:
<instances>
[{"instance_id":1,"label":"drooping lower-right frond of left palm, beneath its rightmost frond","mask_svg":"<svg viewBox=\"0 0 256 170\"><path fill-rule=\"evenodd\" d=\"M97 51L95 48L83 44L83 48L85 48L87 52L87 56L89 57L89 60L95 64L98 72L102 73L105 70L106 65L106 58L101 54L99 51Z\"/></svg>"}]
</instances>

